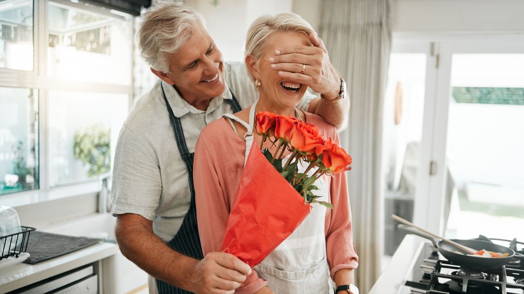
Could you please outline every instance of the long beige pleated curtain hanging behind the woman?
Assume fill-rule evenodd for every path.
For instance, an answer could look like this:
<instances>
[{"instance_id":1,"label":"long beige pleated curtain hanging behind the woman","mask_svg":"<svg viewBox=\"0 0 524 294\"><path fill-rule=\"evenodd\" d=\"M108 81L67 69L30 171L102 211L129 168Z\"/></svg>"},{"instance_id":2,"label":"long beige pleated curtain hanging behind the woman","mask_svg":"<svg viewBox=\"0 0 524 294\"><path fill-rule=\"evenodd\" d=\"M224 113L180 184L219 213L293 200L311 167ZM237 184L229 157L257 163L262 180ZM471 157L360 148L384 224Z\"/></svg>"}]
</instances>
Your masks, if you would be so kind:
<instances>
[{"instance_id":1,"label":"long beige pleated curtain hanging behind the woman","mask_svg":"<svg viewBox=\"0 0 524 294\"><path fill-rule=\"evenodd\" d=\"M355 284L361 293L378 278L383 252L381 146L390 7L390 0L323 0L320 17L320 37L351 98L350 124L341 140L353 157L347 177L359 256Z\"/></svg>"}]
</instances>

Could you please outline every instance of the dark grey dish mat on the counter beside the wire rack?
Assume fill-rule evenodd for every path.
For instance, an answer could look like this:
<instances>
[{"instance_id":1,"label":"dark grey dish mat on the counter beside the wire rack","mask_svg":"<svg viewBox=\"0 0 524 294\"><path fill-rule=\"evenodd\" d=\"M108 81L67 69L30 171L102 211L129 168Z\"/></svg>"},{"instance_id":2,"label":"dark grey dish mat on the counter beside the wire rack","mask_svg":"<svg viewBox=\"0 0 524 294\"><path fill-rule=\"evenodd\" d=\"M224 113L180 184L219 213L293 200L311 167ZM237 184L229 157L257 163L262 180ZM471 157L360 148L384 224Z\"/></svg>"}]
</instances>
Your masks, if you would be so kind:
<instances>
[{"instance_id":1,"label":"dark grey dish mat on the counter beside the wire rack","mask_svg":"<svg viewBox=\"0 0 524 294\"><path fill-rule=\"evenodd\" d=\"M100 239L34 231L29 235L26 250L31 256L24 263L35 264L50 260L51 258L86 248L99 241Z\"/></svg>"}]
</instances>

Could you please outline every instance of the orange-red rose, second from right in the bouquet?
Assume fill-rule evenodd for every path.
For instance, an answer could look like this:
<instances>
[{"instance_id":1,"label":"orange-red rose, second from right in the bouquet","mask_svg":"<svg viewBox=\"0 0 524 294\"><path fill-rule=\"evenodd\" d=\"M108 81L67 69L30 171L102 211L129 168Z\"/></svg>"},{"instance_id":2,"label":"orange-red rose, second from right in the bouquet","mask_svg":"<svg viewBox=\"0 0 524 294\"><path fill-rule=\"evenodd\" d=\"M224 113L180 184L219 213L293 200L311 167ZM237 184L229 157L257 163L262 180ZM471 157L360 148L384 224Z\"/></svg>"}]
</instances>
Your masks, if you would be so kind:
<instances>
[{"instance_id":1,"label":"orange-red rose, second from right in the bouquet","mask_svg":"<svg viewBox=\"0 0 524 294\"><path fill-rule=\"evenodd\" d=\"M316 126L308 123L297 122L291 130L291 146L304 155L314 154L316 147L323 143L322 137Z\"/></svg>"}]
</instances>

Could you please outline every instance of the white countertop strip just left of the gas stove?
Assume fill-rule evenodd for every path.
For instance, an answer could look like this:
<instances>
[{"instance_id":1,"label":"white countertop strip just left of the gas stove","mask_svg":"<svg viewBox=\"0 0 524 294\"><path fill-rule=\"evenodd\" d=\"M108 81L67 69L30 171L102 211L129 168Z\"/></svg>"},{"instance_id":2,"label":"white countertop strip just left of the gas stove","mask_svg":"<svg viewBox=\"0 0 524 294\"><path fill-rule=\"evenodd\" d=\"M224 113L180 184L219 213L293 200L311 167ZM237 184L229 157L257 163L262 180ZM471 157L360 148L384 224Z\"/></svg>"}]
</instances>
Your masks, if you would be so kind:
<instances>
[{"instance_id":1,"label":"white countertop strip just left of the gas stove","mask_svg":"<svg viewBox=\"0 0 524 294\"><path fill-rule=\"evenodd\" d=\"M406 235L369 294L399 293L400 286L411 279L413 265L425 241L428 240L411 234Z\"/></svg>"}]
</instances>

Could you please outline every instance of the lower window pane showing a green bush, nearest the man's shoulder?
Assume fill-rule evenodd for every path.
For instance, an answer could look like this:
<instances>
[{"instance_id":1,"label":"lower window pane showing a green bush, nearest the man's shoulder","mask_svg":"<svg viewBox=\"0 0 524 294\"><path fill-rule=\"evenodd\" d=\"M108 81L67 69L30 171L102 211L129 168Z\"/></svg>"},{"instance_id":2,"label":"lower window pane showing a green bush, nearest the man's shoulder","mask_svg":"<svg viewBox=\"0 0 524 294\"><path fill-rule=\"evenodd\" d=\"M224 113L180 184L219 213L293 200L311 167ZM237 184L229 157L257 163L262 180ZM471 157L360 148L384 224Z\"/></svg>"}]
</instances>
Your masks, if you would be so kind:
<instances>
[{"instance_id":1,"label":"lower window pane showing a green bush, nearest the man's shoulder","mask_svg":"<svg viewBox=\"0 0 524 294\"><path fill-rule=\"evenodd\" d=\"M48 105L49 186L108 174L128 95L51 90Z\"/></svg>"}]
</instances>

